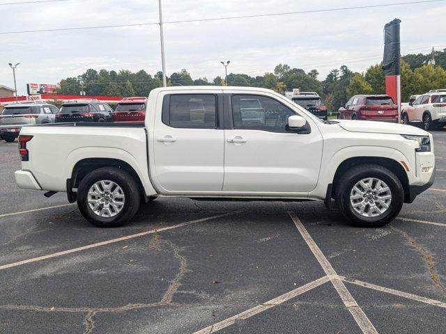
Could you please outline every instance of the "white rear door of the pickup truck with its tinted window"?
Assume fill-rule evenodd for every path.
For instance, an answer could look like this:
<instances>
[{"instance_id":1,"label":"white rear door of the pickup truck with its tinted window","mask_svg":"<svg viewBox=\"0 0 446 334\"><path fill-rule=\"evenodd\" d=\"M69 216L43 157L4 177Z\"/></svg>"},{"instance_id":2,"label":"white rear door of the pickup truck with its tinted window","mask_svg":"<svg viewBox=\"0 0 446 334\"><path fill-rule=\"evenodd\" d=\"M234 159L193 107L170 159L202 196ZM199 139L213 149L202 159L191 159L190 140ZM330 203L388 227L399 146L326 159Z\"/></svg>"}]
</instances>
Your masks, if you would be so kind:
<instances>
[{"instance_id":1,"label":"white rear door of the pickup truck with its tinted window","mask_svg":"<svg viewBox=\"0 0 446 334\"><path fill-rule=\"evenodd\" d=\"M167 193L222 191L221 100L215 91L164 95L164 122L160 117L155 120L153 145L157 181Z\"/></svg>"}]
</instances>

